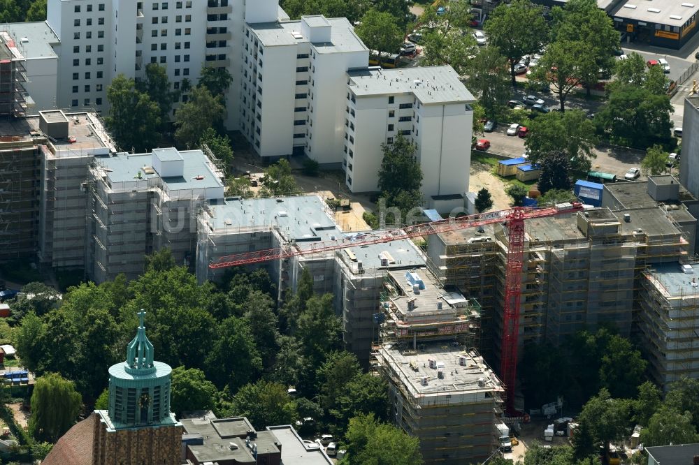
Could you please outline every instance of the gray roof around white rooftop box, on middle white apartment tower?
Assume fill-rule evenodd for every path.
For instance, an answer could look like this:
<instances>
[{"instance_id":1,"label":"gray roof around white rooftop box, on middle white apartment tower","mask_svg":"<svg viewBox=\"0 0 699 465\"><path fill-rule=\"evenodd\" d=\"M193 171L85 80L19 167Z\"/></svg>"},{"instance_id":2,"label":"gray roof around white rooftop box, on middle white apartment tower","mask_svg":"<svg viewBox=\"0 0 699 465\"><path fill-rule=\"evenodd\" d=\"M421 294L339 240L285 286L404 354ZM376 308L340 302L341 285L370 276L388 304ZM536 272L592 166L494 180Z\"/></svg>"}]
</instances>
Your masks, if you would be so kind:
<instances>
[{"instance_id":1,"label":"gray roof around white rooftop box, on middle white apartment tower","mask_svg":"<svg viewBox=\"0 0 699 465\"><path fill-rule=\"evenodd\" d=\"M316 20L313 20L316 21ZM354 34L354 27L344 17L329 18L331 26L331 43L314 43L317 52L361 52L368 48ZM326 24L324 24L326 25ZM250 24L250 29L265 47L275 45L294 45L308 43L308 38L295 38L292 34L301 34L301 21L261 22ZM367 55L368 56L368 55Z\"/></svg>"}]
</instances>

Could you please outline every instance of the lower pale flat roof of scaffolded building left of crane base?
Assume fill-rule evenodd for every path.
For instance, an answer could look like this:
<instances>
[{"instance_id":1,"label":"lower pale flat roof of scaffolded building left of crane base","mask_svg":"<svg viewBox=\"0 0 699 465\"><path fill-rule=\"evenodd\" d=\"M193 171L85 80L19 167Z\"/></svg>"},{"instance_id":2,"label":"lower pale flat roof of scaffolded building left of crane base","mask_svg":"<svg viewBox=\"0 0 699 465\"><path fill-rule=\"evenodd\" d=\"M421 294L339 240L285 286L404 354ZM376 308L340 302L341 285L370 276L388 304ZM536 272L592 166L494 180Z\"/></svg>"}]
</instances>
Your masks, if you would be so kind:
<instances>
[{"instance_id":1,"label":"lower pale flat roof of scaffolded building left of crane base","mask_svg":"<svg viewBox=\"0 0 699 465\"><path fill-rule=\"evenodd\" d=\"M401 344L394 346L384 343L380 354L415 397L451 395L458 392L503 391L498 377L475 350L466 351L445 343L426 344L423 349L415 351L408 350ZM465 365L459 364L459 357L462 356L466 357ZM444 365L444 378L438 378L438 369L430 367L430 360L435 360L438 366ZM421 384L422 376L428 378L427 385ZM483 380L483 386L478 385L479 379Z\"/></svg>"}]
</instances>

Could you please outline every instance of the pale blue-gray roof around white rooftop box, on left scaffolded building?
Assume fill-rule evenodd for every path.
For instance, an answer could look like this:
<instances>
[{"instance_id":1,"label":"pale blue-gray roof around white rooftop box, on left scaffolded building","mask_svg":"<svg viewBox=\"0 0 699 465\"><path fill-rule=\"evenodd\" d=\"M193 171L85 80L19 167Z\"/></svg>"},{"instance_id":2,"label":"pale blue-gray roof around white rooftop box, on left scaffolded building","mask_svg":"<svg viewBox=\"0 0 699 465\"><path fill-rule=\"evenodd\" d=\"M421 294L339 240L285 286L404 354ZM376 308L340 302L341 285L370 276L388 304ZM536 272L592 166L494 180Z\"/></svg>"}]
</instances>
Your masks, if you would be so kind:
<instances>
[{"instance_id":1,"label":"pale blue-gray roof around white rooftop box, on left scaffolded building","mask_svg":"<svg viewBox=\"0 0 699 465\"><path fill-rule=\"evenodd\" d=\"M222 186L222 182L207 163L206 155L201 150L186 150L180 152L185 160L185 175L182 177L165 177L163 182L168 189L206 189ZM110 182L136 181L140 171L142 179L160 177L157 173L148 175L143 171L144 166L152 166L152 154L120 153L113 156L101 156L97 160L107 170ZM202 175L203 179L194 179Z\"/></svg>"}]
</instances>

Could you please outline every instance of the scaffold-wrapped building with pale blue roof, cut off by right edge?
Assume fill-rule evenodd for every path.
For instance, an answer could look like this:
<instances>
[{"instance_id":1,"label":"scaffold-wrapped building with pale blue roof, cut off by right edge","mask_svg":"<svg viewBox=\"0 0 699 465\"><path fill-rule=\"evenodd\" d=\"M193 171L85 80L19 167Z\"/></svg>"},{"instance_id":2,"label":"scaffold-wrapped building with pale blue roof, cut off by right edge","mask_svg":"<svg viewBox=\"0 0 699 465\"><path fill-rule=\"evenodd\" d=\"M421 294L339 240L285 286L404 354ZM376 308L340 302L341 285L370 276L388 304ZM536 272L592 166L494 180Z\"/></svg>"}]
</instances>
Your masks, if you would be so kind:
<instances>
[{"instance_id":1,"label":"scaffold-wrapped building with pale blue roof, cut off by right edge","mask_svg":"<svg viewBox=\"0 0 699 465\"><path fill-rule=\"evenodd\" d=\"M639 327L654 381L667 391L699 378L699 264L654 265L641 284Z\"/></svg>"}]
</instances>

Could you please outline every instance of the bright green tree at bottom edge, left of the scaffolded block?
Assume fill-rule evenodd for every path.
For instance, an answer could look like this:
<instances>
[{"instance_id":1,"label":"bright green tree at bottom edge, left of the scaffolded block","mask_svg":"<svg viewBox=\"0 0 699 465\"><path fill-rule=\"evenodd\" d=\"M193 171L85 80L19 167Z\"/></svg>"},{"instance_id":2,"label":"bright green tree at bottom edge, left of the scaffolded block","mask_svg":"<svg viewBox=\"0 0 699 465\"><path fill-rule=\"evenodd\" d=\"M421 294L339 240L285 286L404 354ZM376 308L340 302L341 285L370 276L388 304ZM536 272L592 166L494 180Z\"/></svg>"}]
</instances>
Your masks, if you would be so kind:
<instances>
[{"instance_id":1,"label":"bright green tree at bottom edge, left of the scaffolded block","mask_svg":"<svg viewBox=\"0 0 699 465\"><path fill-rule=\"evenodd\" d=\"M378 422L374 415L357 415L349 420L345 434L347 465L421 465L424 463L419 439Z\"/></svg>"}]
</instances>

